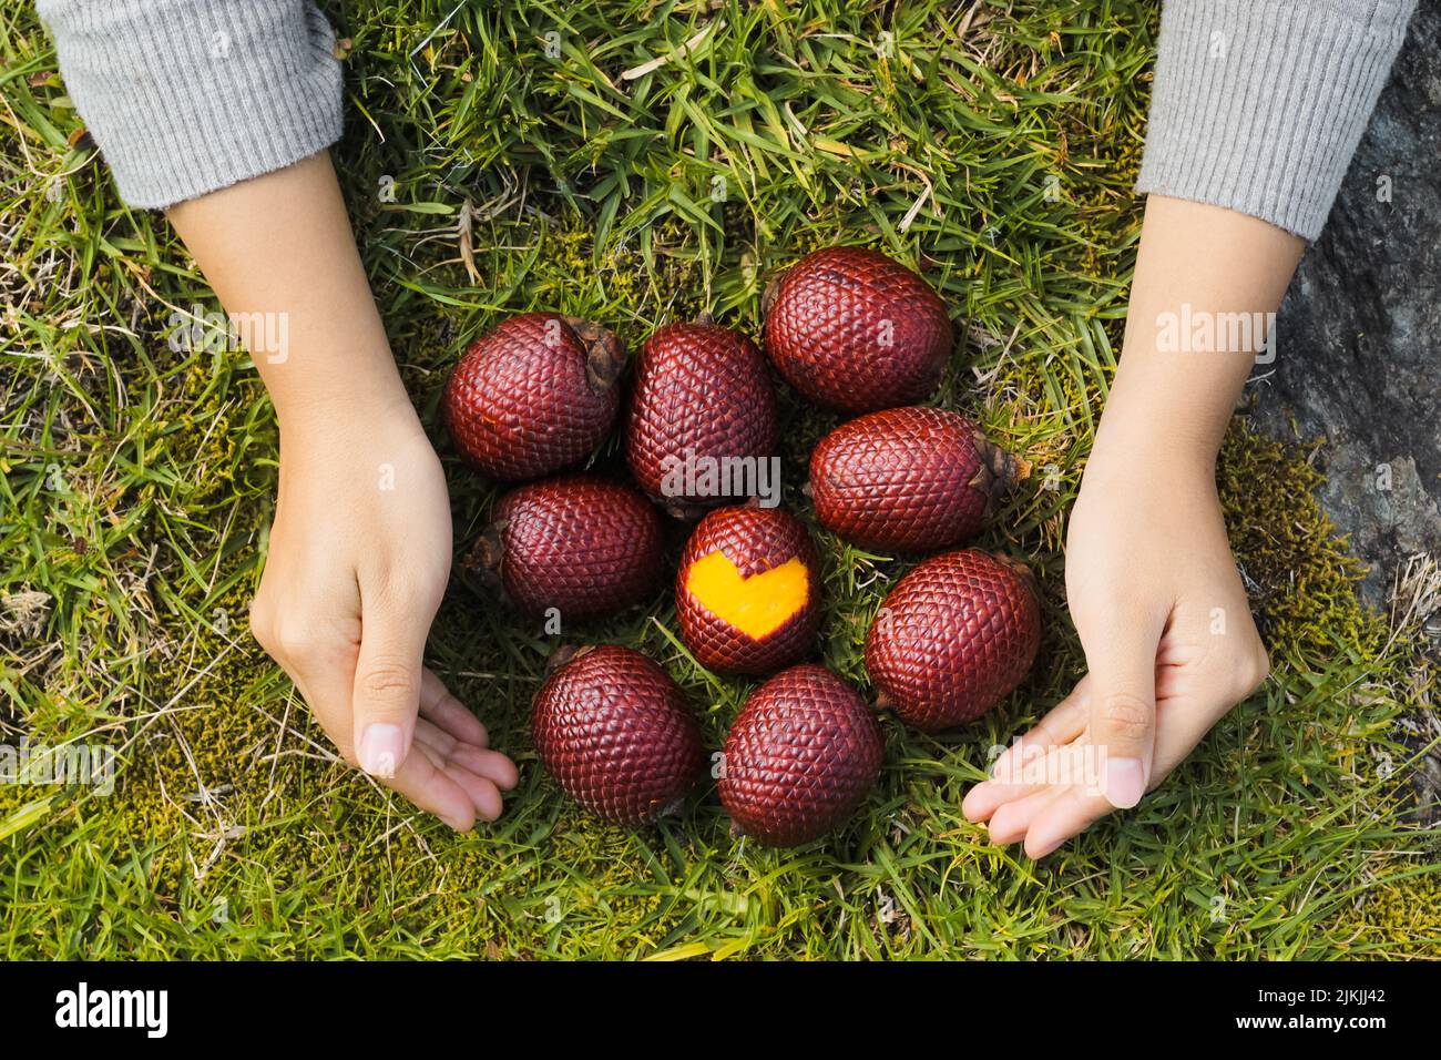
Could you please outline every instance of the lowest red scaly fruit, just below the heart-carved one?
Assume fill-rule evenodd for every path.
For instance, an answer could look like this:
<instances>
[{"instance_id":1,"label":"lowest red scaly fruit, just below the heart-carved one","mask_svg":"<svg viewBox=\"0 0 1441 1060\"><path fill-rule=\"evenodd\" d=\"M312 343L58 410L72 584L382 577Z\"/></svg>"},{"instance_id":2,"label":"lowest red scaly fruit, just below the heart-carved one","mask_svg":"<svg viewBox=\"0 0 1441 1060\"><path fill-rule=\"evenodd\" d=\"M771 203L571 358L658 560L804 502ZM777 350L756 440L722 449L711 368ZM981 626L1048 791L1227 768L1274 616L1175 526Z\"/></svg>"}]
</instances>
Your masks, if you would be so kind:
<instances>
[{"instance_id":1,"label":"lowest red scaly fruit, just below the heart-carved one","mask_svg":"<svg viewBox=\"0 0 1441 1060\"><path fill-rule=\"evenodd\" d=\"M716 787L736 831L795 847L855 813L883 751L880 725L850 685L824 666L791 666L741 708Z\"/></svg>"}]
</instances>

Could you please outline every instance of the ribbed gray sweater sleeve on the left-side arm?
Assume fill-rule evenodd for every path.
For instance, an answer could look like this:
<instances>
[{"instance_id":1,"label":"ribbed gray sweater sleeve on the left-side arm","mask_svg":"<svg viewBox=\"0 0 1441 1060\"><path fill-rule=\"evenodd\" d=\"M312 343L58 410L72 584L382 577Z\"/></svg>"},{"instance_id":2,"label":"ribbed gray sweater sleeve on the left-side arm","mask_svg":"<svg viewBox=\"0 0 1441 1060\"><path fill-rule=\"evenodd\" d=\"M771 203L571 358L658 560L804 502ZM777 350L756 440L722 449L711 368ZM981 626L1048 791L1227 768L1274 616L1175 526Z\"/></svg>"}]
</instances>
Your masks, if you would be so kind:
<instances>
[{"instance_id":1,"label":"ribbed gray sweater sleeve on the left-side arm","mask_svg":"<svg viewBox=\"0 0 1441 1060\"><path fill-rule=\"evenodd\" d=\"M37 0L36 9L133 206L193 199L340 137L336 36L310 0Z\"/></svg>"}]
</instances>

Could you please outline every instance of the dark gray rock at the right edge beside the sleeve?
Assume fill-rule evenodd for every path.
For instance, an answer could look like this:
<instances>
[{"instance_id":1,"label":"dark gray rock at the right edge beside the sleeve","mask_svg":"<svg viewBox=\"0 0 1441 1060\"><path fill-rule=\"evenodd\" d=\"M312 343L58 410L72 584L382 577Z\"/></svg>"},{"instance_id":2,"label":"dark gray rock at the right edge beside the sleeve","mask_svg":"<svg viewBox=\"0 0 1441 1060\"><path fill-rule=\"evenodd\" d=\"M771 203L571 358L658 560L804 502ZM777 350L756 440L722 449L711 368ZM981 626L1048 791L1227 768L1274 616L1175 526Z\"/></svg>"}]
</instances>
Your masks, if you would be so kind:
<instances>
[{"instance_id":1,"label":"dark gray rock at the right edge beside the sleeve","mask_svg":"<svg viewBox=\"0 0 1441 1060\"><path fill-rule=\"evenodd\" d=\"M1321 500L1389 609L1399 564L1441 558L1441 0L1421 0L1275 352L1252 420L1321 443Z\"/></svg>"}]
</instances>

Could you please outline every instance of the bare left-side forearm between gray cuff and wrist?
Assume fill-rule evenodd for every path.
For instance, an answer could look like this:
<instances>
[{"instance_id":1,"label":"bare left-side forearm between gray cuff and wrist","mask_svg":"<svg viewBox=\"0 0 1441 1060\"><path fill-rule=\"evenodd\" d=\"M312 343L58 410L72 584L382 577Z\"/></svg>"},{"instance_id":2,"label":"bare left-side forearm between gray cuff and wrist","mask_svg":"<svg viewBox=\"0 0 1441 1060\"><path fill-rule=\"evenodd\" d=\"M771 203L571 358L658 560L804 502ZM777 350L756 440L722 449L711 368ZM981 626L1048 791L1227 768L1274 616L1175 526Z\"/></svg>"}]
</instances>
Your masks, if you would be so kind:
<instances>
[{"instance_id":1,"label":"bare left-side forearm between gray cuff and wrist","mask_svg":"<svg viewBox=\"0 0 1441 1060\"><path fill-rule=\"evenodd\" d=\"M414 415L327 153L169 216L226 313L254 324L251 355L282 430L337 410Z\"/></svg>"}]
</instances>

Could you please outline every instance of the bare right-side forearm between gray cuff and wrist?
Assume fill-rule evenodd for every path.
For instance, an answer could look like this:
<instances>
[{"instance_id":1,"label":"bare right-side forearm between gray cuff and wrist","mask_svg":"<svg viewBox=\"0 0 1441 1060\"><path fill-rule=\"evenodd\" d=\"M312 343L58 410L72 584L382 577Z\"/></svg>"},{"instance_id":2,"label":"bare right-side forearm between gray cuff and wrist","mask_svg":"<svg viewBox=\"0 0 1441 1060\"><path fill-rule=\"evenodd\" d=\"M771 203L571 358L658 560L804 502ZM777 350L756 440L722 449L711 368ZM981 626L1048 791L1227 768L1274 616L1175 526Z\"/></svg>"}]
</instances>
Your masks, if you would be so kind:
<instances>
[{"instance_id":1,"label":"bare right-side forearm between gray cuff and wrist","mask_svg":"<svg viewBox=\"0 0 1441 1060\"><path fill-rule=\"evenodd\" d=\"M1303 248L1265 221L1153 195L1097 449L1209 476Z\"/></svg>"}]
</instances>

